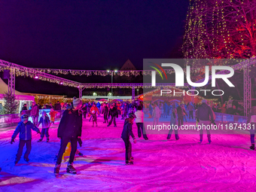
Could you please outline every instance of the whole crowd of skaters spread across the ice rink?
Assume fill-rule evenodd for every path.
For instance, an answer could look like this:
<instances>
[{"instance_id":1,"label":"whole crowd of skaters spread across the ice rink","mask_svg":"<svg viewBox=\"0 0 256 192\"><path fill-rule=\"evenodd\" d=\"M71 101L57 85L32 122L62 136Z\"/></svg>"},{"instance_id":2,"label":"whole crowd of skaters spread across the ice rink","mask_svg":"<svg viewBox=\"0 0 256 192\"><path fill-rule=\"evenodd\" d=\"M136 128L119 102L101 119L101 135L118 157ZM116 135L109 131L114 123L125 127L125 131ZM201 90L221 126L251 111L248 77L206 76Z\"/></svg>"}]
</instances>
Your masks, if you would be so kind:
<instances>
[{"instance_id":1,"label":"whole crowd of skaters spread across the ice rink","mask_svg":"<svg viewBox=\"0 0 256 192\"><path fill-rule=\"evenodd\" d=\"M54 173L58 174L60 169L60 164L62 161L63 154L66 151L66 146L70 143L71 152L69 157L69 163L67 166L67 172L75 174L76 169L73 166L73 161L75 158L75 154L79 151L77 150L78 143L82 145L81 141L81 133L82 133L82 124L83 118L86 119L90 117L89 121L92 120L92 126L97 126L97 117L102 115L104 117L104 122L107 123L107 126L111 126L111 123L114 123L114 127L117 126L116 118L120 117L124 120L123 123L123 132L121 134L121 138L123 139L124 146L126 149L125 153L125 163L126 165L133 164L132 157L132 144L130 142L130 136L133 138L133 142L136 143L136 137L133 134L133 122L135 120L136 126L138 128L138 136L145 140L148 140L148 136L145 131L144 126L144 117L145 112L143 109L142 102L87 102L84 103L81 99L74 98L72 105L69 104L60 104L56 103L55 106L62 111L62 118L59 122L58 127L58 138L60 139L60 148L59 153L56 156L56 166L54 168ZM71 106L71 107L70 107ZM53 116L56 114L54 109L51 108L50 112L52 112ZM48 130L50 125L54 123L54 117L50 118L47 116L46 112L43 111L38 122L38 105L35 102L32 103L31 108L31 116L32 122L28 120L28 114L23 114L21 117L21 121L18 124L16 130L14 131L13 136L11 137L11 144L14 142L16 136L20 133L20 144L18 148L18 152L16 155L16 159L14 161L17 164L20 160L20 157L23 152L23 147L26 145L26 153L24 155L24 160L29 162L29 153L31 151L31 139L32 139L32 130L41 134L41 139L38 142L41 142L44 139L44 136L47 138L47 142L49 142L49 133ZM170 125L178 125L181 126L184 123L184 120L196 120L197 124L201 126L209 125L211 123L215 123L215 111L212 107L210 107L206 99L203 99L200 105L194 105L192 102L187 103L187 105L179 103L172 103L171 105L167 105L164 102L154 102L148 105L148 117L153 118L154 125L159 124L160 117L169 118ZM250 114L248 117L249 123L256 124L256 114ZM42 125L42 130L38 129L39 125ZM172 126L173 127L173 126ZM170 139L172 136L173 128L169 130L169 134L167 139ZM178 130L174 130L175 139L178 140ZM207 138L209 143L211 140L211 133L209 130L206 130ZM254 150L254 133L255 131L251 130L251 149ZM203 142L203 130L200 130L200 143Z\"/></svg>"}]
</instances>

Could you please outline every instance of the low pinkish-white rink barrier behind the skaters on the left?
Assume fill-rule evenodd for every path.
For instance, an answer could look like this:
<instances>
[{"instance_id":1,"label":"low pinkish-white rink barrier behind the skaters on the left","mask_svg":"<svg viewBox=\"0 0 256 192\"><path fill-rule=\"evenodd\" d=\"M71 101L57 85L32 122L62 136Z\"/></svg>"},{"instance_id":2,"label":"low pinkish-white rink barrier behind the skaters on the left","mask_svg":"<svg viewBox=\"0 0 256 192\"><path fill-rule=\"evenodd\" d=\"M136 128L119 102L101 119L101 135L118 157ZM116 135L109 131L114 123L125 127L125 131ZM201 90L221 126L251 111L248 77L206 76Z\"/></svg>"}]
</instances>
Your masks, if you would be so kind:
<instances>
[{"instance_id":1,"label":"low pinkish-white rink barrier behind the skaters on the left","mask_svg":"<svg viewBox=\"0 0 256 192\"><path fill-rule=\"evenodd\" d=\"M41 114L43 111L45 111L47 113L48 117L50 118L50 115L49 115L50 108L40 109L38 121L39 121L39 118L41 117ZM56 110L56 111L59 112L55 116L55 119L57 120L57 119L60 119L62 111L61 110ZM29 115L29 120L31 122L33 122L32 117L30 116L30 110L27 110L24 112ZM17 124L20 122L20 117L21 117L21 114L2 114L2 115L0 115L0 128L9 127L9 126L17 126Z\"/></svg>"}]
</instances>

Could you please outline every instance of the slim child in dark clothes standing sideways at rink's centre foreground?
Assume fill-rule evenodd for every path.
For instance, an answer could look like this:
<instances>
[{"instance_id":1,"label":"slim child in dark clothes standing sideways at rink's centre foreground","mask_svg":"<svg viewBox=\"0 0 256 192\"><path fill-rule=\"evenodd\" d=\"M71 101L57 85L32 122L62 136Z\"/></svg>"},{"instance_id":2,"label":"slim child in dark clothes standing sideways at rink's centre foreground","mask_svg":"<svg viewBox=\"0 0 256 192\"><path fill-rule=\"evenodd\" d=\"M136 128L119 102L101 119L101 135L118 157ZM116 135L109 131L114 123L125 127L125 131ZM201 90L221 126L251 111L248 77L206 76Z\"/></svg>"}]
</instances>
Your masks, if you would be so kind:
<instances>
[{"instance_id":1,"label":"slim child in dark clothes standing sideways at rink's centre foreground","mask_svg":"<svg viewBox=\"0 0 256 192\"><path fill-rule=\"evenodd\" d=\"M130 142L130 136L133 137L133 142L136 143L136 138L133 134L133 120L135 118L135 114L130 113L128 118L124 120L123 132L121 138L123 139L125 145L125 163L126 165L133 165L133 157L132 157L132 144Z\"/></svg>"}]
</instances>

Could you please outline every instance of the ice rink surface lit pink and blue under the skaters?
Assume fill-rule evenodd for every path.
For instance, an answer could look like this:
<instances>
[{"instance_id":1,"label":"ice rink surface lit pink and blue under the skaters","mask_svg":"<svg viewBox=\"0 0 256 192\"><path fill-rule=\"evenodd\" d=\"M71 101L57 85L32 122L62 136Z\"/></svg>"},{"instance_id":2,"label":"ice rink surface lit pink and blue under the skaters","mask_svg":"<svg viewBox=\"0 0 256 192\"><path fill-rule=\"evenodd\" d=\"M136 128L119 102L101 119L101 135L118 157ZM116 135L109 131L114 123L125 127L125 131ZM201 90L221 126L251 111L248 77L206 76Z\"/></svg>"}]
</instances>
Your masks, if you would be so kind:
<instances>
[{"instance_id":1,"label":"ice rink surface lit pink and blue under the skaters","mask_svg":"<svg viewBox=\"0 0 256 192\"><path fill-rule=\"evenodd\" d=\"M98 127L84 120L82 148L85 157L76 157L77 175L53 174L54 157L59 150L57 125L50 128L50 143L32 131L30 162L22 159L14 166L19 139L13 145L14 130L0 131L0 191L255 191L256 152L250 151L248 134L204 136L180 135L170 141L166 135L148 135L133 144L132 166L124 165L124 144L120 139L123 120L109 127L98 117ZM167 123L167 120L166 120ZM138 138L136 124L133 133ZM24 148L25 149L25 148ZM23 150L23 153L25 150Z\"/></svg>"}]
</instances>

